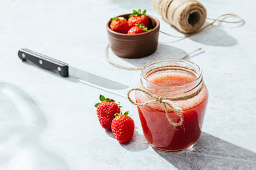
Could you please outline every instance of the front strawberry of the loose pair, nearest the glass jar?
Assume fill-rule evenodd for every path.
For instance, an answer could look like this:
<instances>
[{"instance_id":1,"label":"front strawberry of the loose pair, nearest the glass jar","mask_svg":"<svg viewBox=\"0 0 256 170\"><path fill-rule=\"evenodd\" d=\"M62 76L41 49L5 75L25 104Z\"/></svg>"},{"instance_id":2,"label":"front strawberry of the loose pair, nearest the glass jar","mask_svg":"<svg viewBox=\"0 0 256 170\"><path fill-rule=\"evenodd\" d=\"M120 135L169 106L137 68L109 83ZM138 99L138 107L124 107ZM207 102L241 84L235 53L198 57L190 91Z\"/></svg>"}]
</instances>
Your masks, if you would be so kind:
<instances>
[{"instance_id":1,"label":"front strawberry of the loose pair, nearest the glass jar","mask_svg":"<svg viewBox=\"0 0 256 170\"><path fill-rule=\"evenodd\" d=\"M134 134L134 121L128 117L128 111L115 114L115 118L111 124L111 130L120 143L127 143L132 139Z\"/></svg>"}]
</instances>

